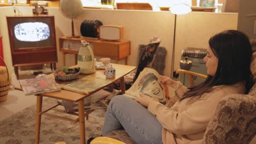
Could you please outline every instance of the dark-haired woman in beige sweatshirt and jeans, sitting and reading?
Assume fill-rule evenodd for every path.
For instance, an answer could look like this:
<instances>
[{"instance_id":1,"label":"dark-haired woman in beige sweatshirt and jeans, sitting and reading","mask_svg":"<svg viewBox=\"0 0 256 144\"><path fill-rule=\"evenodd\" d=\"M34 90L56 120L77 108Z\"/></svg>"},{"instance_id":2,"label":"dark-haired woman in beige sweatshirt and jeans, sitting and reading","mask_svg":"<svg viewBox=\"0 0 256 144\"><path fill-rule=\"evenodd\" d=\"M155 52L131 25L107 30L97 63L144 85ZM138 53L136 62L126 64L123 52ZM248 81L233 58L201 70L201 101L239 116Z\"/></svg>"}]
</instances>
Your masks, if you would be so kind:
<instances>
[{"instance_id":1,"label":"dark-haired woman in beige sweatshirt and jeans, sitting and reading","mask_svg":"<svg viewBox=\"0 0 256 144\"><path fill-rule=\"evenodd\" d=\"M206 62L208 77L187 88L162 76L181 98L172 107L141 95L132 100L114 97L109 104L102 135L125 129L137 143L201 143L210 118L223 97L248 93L252 87L252 49L245 34L229 30L210 38ZM147 107L147 109L145 109Z\"/></svg>"}]
</instances>

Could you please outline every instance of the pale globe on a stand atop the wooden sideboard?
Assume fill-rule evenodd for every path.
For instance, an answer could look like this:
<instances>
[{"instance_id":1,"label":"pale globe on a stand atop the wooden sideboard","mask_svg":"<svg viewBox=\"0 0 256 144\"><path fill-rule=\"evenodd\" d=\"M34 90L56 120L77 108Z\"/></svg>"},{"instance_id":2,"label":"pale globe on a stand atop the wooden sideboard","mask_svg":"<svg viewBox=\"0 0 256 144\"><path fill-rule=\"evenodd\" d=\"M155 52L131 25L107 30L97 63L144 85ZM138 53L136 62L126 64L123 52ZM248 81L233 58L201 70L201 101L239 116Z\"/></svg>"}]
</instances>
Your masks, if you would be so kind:
<instances>
[{"instance_id":1,"label":"pale globe on a stand atop the wooden sideboard","mask_svg":"<svg viewBox=\"0 0 256 144\"><path fill-rule=\"evenodd\" d=\"M83 4L80 0L61 0L60 1L60 10L62 15L66 16L68 19L71 19L72 24L72 36L79 37L74 35L74 22L73 19L77 18L79 15L83 14Z\"/></svg>"}]
</instances>

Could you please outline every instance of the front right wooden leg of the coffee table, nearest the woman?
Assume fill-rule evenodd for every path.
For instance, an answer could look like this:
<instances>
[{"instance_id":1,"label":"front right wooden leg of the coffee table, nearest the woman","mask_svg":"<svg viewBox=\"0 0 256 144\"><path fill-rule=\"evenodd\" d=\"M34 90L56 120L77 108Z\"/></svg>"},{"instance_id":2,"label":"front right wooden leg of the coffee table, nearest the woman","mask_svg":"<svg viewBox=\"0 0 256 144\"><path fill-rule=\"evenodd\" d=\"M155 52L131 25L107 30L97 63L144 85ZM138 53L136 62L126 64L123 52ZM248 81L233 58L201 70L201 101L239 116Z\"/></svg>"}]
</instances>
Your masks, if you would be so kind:
<instances>
[{"instance_id":1,"label":"front right wooden leg of the coffee table, nearest the woman","mask_svg":"<svg viewBox=\"0 0 256 144\"><path fill-rule=\"evenodd\" d=\"M84 99L78 101L80 143L85 144Z\"/></svg>"}]
</instances>

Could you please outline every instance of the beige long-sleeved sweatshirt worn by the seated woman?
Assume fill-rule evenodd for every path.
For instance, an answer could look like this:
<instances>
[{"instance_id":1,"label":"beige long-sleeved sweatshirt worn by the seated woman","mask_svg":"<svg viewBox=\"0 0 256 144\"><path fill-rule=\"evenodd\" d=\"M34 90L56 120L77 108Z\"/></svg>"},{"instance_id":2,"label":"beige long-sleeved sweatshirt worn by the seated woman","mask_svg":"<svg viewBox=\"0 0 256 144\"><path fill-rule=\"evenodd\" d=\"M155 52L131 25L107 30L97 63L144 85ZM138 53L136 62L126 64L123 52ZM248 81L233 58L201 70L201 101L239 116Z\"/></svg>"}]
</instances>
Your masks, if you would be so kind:
<instances>
[{"instance_id":1,"label":"beige long-sleeved sweatshirt worn by the seated woman","mask_svg":"<svg viewBox=\"0 0 256 144\"><path fill-rule=\"evenodd\" d=\"M177 82L176 95L181 98L188 88ZM149 103L148 111L162 124L162 142L202 143L203 135L217 105L228 94L243 94L246 88L242 82L231 86L214 86L200 99L184 99L172 107L157 101ZM191 100L190 100L191 99ZM189 101L190 100L190 101Z\"/></svg>"}]
</instances>

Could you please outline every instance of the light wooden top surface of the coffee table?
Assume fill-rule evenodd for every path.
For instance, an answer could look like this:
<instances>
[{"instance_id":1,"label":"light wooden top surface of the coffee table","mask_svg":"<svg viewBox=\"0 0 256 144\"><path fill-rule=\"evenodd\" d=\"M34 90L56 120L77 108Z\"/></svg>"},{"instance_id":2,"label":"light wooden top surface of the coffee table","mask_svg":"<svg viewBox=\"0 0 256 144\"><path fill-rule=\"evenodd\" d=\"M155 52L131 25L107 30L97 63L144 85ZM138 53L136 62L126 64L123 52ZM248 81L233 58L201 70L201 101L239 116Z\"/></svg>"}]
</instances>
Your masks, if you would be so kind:
<instances>
[{"instance_id":1,"label":"light wooden top surface of the coffee table","mask_svg":"<svg viewBox=\"0 0 256 144\"><path fill-rule=\"evenodd\" d=\"M136 68L136 67L130 66L130 65L122 65L122 64L114 64L114 63L112 65L113 65L113 68L116 69L115 77L113 79L107 79L107 80L112 81L112 83L116 80L119 80L121 77L125 76L126 74L130 73L132 70L134 70ZM77 65L74 67L77 67ZM53 74L50 74L50 75L54 76ZM104 75L104 70L96 70L96 72L93 74L90 74L90 76L95 76L95 77L106 80L106 75ZM102 88L99 88L92 93L95 93L95 92L99 91L100 89L102 89ZM90 94L92 94L92 93L90 93ZM61 100L77 102L85 97L88 97L90 94L88 94L88 95L81 94L81 93L76 93L76 92L67 91L65 89L61 89L61 91L42 93L42 94L38 94L38 95L44 96L44 97L51 97L51 98L56 98L56 99L61 99Z\"/></svg>"}]
</instances>

